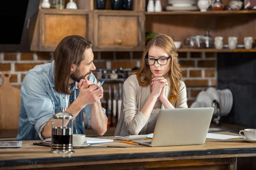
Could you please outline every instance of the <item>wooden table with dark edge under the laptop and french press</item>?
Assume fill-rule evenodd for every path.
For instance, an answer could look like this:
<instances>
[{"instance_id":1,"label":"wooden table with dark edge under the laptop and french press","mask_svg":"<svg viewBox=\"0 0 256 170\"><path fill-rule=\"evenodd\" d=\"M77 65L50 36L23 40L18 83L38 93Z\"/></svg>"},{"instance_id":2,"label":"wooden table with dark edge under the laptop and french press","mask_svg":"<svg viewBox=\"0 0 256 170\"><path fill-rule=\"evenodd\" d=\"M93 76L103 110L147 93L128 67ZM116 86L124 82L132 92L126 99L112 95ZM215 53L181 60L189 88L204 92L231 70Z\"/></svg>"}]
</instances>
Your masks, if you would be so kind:
<instances>
[{"instance_id":1,"label":"wooden table with dark edge under the laptop and french press","mask_svg":"<svg viewBox=\"0 0 256 170\"><path fill-rule=\"evenodd\" d=\"M225 133L237 135L234 133ZM200 169L236 170L237 158L256 156L256 143L239 138L207 139L205 144L147 147L114 140L102 145L127 148L84 147L73 154L49 153L50 147L23 141L21 148L0 149L0 170Z\"/></svg>"}]
</instances>

